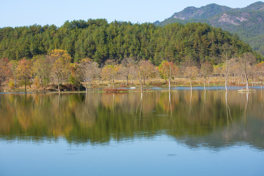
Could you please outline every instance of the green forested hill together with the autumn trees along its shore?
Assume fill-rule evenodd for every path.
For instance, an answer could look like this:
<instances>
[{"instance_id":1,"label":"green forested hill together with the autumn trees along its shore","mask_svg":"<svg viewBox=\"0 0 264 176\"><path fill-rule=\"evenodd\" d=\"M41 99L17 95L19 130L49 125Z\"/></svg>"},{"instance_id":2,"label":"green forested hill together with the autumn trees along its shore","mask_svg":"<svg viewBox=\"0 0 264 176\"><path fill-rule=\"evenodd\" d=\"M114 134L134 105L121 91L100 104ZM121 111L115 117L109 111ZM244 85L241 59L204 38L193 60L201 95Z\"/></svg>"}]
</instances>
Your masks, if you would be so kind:
<instances>
[{"instance_id":1,"label":"green forested hill together with the autumn trees along its shore","mask_svg":"<svg viewBox=\"0 0 264 176\"><path fill-rule=\"evenodd\" d=\"M0 28L0 86L4 90L86 90L206 79L225 85L263 79L263 58L236 35L204 23L164 27L88 20ZM257 65L258 64L258 65ZM202 80L202 82L198 80ZM183 80L183 81L182 81ZM248 89L248 86L246 87Z\"/></svg>"}]
</instances>

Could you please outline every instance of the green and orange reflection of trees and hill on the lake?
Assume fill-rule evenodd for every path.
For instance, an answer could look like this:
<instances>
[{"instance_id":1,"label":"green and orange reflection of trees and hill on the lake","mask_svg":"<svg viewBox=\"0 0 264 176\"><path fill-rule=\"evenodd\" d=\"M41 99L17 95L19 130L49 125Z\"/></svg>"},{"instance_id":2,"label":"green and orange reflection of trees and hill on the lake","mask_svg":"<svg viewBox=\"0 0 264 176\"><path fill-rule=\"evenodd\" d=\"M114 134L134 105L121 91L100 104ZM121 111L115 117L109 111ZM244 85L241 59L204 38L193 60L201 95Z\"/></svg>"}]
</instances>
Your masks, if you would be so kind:
<instances>
[{"instance_id":1,"label":"green and orange reflection of trees and hill on the lake","mask_svg":"<svg viewBox=\"0 0 264 176\"><path fill-rule=\"evenodd\" d=\"M192 147L246 141L264 148L261 92L229 91L226 99L225 91L145 92L142 99L141 93L28 94L26 101L3 94L1 103L2 137L101 143L162 131Z\"/></svg>"}]
</instances>

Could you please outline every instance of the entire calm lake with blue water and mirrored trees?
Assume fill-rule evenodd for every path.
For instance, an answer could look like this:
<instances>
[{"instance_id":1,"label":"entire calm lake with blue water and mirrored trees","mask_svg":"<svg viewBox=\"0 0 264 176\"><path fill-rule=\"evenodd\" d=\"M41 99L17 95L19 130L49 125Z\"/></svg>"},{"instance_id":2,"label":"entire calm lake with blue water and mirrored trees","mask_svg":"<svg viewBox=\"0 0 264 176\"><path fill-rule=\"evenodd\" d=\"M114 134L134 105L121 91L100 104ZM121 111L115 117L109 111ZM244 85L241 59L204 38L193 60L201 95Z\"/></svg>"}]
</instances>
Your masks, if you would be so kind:
<instances>
[{"instance_id":1,"label":"entire calm lake with blue water and mirrored trees","mask_svg":"<svg viewBox=\"0 0 264 176\"><path fill-rule=\"evenodd\" d=\"M0 176L264 176L264 95L1 94Z\"/></svg>"}]
</instances>

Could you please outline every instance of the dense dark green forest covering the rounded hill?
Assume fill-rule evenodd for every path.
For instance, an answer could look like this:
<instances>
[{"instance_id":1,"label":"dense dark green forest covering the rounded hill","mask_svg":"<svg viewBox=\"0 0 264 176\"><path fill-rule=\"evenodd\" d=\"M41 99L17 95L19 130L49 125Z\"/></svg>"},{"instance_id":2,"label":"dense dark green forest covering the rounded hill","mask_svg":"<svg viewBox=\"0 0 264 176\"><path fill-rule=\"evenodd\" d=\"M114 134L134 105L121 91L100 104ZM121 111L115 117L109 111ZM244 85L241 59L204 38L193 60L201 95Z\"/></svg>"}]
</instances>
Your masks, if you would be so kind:
<instances>
[{"instance_id":1,"label":"dense dark green forest covering the rounded hill","mask_svg":"<svg viewBox=\"0 0 264 176\"><path fill-rule=\"evenodd\" d=\"M64 49L78 62L91 58L101 64L108 59L119 62L128 57L151 60L159 65L168 59L180 63L192 58L198 63L218 64L223 44L233 45L237 55L251 52L238 36L205 23L173 23L164 27L153 23L111 22L105 19L0 28L0 57L30 59L52 49Z\"/></svg>"}]
</instances>

